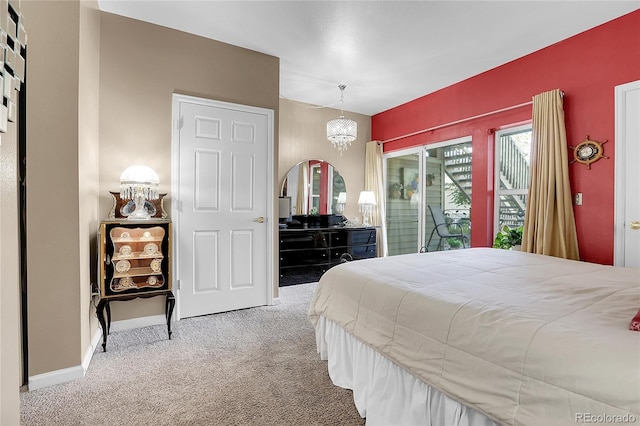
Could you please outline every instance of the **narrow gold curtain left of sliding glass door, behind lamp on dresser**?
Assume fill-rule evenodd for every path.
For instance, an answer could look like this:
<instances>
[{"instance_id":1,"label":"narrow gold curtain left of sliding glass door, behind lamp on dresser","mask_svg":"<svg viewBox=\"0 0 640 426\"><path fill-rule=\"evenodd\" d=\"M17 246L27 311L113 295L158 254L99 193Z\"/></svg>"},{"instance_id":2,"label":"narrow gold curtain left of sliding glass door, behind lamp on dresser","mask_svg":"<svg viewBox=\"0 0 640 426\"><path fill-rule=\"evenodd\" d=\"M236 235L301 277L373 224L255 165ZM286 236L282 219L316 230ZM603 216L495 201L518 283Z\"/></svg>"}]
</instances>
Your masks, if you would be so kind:
<instances>
[{"instance_id":1,"label":"narrow gold curtain left of sliding glass door, behind lamp on dresser","mask_svg":"<svg viewBox=\"0 0 640 426\"><path fill-rule=\"evenodd\" d=\"M387 255L387 227L384 198L384 175L382 173L382 144L367 142L365 149L364 189L373 191L376 206L371 214L371 224L378 226L379 257Z\"/></svg>"}]
</instances>

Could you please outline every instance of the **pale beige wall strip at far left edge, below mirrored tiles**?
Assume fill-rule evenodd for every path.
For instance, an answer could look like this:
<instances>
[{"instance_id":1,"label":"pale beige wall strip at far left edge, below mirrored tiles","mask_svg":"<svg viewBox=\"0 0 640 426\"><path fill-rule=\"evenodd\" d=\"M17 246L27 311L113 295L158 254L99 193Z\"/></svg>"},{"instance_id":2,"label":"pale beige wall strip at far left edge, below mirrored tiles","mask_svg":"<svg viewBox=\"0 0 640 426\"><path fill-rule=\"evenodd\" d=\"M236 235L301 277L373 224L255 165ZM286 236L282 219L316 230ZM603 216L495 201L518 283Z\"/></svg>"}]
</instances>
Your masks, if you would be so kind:
<instances>
[{"instance_id":1,"label":"pale beige wall strip at far left edge, below mirrored tiles","mask_svg":"<svg viewBox=\"0 0 640 426\"><path fill-rule=\"evenodd\" d=\"M16 124L0 134L0 425L20 424L20 283Z\"/></svg>"}]
</instances>

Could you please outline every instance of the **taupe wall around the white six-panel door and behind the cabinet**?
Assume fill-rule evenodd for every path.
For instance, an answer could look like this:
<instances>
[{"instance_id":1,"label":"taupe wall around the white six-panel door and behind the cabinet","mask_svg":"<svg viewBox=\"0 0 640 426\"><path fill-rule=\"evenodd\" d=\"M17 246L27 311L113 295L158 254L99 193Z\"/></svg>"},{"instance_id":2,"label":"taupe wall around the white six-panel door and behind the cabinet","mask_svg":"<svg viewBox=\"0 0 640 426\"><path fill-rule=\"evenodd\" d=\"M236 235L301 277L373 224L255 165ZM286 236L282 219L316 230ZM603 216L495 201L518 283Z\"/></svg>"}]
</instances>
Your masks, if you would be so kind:
<instances>
[{"instance_id":1,"label":"taupe wall around the white six-panel door and behind the cabinet","mask_svg":"<svg viewBox=\"0 0 640 426\"><path fill-rule=\"evenodd\" d=\"M120 174L134 164L158 173L161 192L169 193L165 208L170 213L173 93L274 110L277 170L278 58L107 13L100 43L103 217L112 205L109 191L118 190ZM163 301L114 302L113 319L160 315Z\"/></svg>"}]
</instances>

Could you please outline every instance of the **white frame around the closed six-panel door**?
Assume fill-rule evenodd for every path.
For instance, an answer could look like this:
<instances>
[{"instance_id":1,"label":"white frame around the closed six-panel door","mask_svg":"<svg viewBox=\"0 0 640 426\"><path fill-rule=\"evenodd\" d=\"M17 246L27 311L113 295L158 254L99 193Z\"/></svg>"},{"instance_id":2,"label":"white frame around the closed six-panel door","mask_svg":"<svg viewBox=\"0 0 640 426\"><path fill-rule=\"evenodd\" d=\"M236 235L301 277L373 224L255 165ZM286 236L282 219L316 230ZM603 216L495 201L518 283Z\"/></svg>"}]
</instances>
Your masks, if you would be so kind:
<instances>
[{"instance_id":1,"label":"white frame around the closed six-panel door","mask_svg":"<svg viewBox=\"0 0 640 426\"><path fill-rule=\"evenodd\" d=\"M267 305L274 304L273 292L274 292L274 241L275 241L275 226L278 224L277 212L274 210L274 112L271 109L254 107L249 105L235 104L224 101L217 101L214 99L200 98L196 96L182 95L179 93L172 94L171 100L171 220L173 222L173 264L172 264L172 288L176 297L176 312L174 318L181 319L180 313L180 252L178 251L180 241L180 211L182 210L182 201L180 200L180 105L182 103L191 103L196 105L211 106L214 108L226 108L235 111L264 114L267 116L267 182L271 184L267 185L267 214L265 218L267 223L267 247L265 256L267 257ZM276 220L271 220L276 218Z\"/></svg>"}]
</instances>

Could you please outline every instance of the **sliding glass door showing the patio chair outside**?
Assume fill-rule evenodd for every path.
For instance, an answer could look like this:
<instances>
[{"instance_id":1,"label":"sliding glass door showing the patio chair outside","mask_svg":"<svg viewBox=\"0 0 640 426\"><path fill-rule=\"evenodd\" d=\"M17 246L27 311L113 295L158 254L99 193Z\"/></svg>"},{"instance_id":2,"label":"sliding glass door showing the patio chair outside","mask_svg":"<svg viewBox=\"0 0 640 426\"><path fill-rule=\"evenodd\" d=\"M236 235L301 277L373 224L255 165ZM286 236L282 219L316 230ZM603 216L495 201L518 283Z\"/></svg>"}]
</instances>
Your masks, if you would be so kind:
<instances>
[{"instance_id":1,"label":"sliding glass door showing the patio chair outside","mask_svg":"<svg viewBox=\"0 0 640 426\"><path fill-rule=\"evenodd\" d=\"M469 247L471 138L385 156L390 256Z\"/></svg>"}]
</instances>

